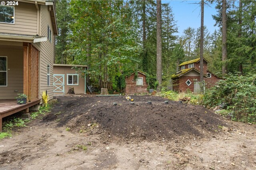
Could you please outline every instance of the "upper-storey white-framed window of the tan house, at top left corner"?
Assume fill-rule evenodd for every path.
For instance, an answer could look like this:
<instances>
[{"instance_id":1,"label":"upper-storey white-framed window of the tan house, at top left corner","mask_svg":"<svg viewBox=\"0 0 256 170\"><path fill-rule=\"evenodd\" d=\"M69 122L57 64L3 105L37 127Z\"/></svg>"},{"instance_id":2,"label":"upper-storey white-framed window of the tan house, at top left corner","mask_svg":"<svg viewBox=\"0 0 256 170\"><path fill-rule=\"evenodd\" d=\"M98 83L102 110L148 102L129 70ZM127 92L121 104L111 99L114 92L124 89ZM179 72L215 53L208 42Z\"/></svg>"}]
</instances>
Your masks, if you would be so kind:
<instances>
[{"instance_id":1,"label":"upper-storey white-framed window of the tan house, at top left corner","mask_svg":"<svg viewBox=\"0 0 256 170\"><path fill-rule=\"evenodd\" d=\"M14 23L14 6L0 5L0 22Z\"/></svg>"}]
</instances>

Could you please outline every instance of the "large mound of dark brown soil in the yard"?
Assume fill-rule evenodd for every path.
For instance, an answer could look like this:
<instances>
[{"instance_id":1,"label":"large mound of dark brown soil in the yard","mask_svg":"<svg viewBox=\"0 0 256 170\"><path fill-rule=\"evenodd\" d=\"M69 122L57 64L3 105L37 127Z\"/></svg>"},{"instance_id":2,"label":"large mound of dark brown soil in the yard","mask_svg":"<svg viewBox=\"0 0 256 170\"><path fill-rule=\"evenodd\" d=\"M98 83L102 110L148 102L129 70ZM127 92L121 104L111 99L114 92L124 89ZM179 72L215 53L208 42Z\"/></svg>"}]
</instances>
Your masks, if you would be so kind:
<instances>
[{"instance_id":1,"label":"large mound of dark brown soil in the yard","mask_svg":"<svg viewBox=\"0 0 256 170\"><path fill-rule=\"evenodd\" d=\"M173 101L164 104L166 99L149 95L131 98L134 105L124 96L58 97L44 121L58 121L58 126L69 127L73 132L98 133L110 141L205 137L215 133L218 126L227 126L222 117L202 106Z\"/></svg>"}]
</instances>

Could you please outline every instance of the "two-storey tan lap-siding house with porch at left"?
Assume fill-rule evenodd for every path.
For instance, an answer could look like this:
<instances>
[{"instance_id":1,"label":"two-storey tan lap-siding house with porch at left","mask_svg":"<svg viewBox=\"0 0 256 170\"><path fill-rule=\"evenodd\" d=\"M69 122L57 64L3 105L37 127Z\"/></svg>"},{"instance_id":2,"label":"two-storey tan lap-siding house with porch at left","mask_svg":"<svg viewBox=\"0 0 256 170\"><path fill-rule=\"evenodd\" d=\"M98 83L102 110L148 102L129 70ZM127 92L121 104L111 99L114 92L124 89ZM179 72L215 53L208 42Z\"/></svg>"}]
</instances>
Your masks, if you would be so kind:
<instances>
[{"instance_id":1,"label":"two-storey tan lap-siding house with porch at left","mask_svg":"<svg viewBox=\"0 0 256 170\"><path fill-rule=\"evenodd\" d=\"M2 117L44 103L42 92L47 90L53 98L54 35L58 35L54 2L18 0L15 6L0 5L0 127ZM28 96L27 104L8 109L2 101L16 99L19 93Z\"/></svg>"}]
</instances>

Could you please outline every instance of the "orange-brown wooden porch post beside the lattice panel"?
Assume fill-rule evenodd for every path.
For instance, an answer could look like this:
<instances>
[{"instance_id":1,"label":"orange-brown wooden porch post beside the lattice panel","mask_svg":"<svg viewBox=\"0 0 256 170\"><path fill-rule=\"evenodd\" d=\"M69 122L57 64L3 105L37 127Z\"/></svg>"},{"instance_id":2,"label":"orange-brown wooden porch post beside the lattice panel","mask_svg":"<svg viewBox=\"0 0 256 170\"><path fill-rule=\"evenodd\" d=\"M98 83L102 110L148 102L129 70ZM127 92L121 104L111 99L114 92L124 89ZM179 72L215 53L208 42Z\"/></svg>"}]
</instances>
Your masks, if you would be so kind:
<instances>
[{"instance_id":1,"label":"orange-brown wooden porch post beside the lattice panel","mask_svg":"<svg viewBox=\"0 0 256 170\"><path fill-rule=\"evenodd\" d=\"M28 43L23 43L23 93L28 95Z\"/></svg>"}]
</instances>

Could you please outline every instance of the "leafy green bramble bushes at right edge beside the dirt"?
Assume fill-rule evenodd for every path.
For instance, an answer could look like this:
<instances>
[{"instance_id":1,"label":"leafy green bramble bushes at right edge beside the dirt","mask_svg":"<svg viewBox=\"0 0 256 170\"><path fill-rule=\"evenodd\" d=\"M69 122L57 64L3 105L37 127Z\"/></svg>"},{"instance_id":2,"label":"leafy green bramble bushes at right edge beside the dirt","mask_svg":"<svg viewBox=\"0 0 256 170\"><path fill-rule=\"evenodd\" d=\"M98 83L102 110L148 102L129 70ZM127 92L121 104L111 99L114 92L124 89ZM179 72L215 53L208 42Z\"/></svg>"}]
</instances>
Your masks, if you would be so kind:
<instances>
[{"instance_id":1,"label":"leafy green bramble bushes at right edge beside the dirt","mask_svg":"<svg viewBox=\"0 0 256 170\"><path fill-rule=\"evenodd\" d=\"M256 123L256 74L228 74L226 80L220 80L217 86L206 91L206 106L221 103L232 110L234 120Z\"/></svg>"}]
</instances>

